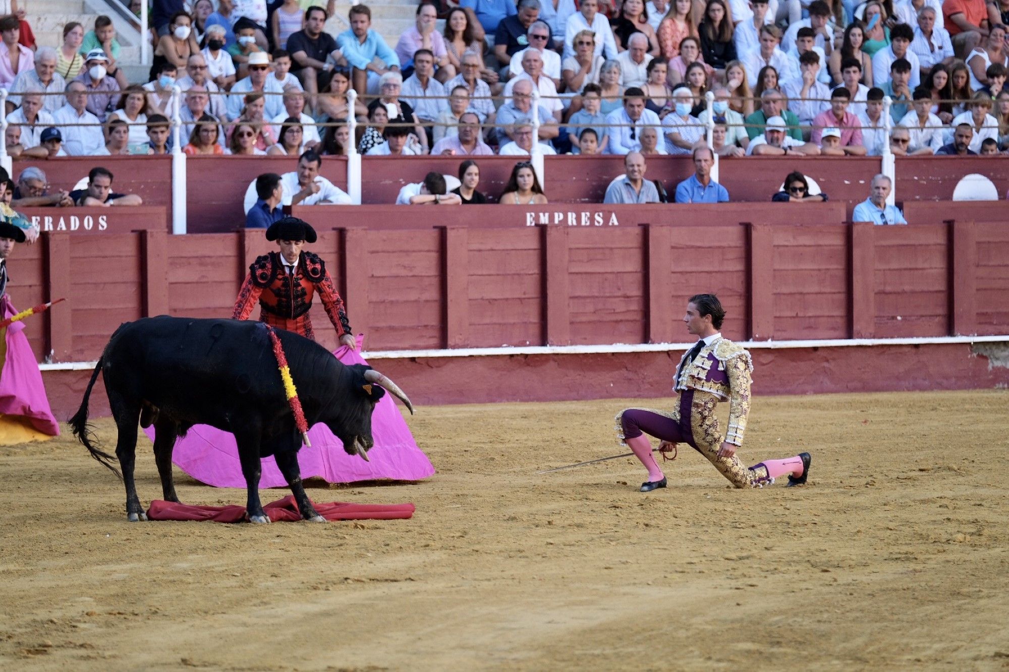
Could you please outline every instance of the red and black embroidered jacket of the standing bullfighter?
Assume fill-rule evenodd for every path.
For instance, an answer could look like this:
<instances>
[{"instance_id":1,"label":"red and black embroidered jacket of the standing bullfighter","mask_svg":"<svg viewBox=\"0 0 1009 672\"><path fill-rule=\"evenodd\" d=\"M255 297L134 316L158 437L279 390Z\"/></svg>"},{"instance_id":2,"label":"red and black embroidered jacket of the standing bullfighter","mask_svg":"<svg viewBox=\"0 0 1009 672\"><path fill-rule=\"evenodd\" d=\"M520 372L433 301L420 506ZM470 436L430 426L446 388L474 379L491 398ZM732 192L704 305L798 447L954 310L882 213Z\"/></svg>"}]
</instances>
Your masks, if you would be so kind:
<instances>
[{"instance_id":1,"label":"red and black embroidered jacket of the standing bullfighter","mask_svg":"<svg viewBox=\"0 0 1009 672\"><path fill-rule=\"evenodd\" d=\"M247 320L258 302L261 321L313 338L308 312L316 292L336 328L337 336L352 333L343 300L333 285L333 278L326 271L325 262L312 252L302 252L294 275L288 273L279 252L256 257L238 292L231 317Z\"/></svg>"}]
</instances>

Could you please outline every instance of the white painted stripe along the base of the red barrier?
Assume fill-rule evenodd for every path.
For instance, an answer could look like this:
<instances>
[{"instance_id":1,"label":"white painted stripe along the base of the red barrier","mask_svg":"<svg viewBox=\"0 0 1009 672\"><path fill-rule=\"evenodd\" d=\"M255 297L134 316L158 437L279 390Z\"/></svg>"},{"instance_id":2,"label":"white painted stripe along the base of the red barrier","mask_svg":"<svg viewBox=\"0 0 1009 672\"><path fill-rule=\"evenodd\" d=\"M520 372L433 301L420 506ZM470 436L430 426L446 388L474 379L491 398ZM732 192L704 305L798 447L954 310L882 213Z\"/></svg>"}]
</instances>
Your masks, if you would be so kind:
<instances>
[{"instance_id":1,"label":"white painted stripe along the base of the red barrier","mask_svg":"<svg viewBox=\"0 0 1009 672\"><path fill-rule=\"evenodd\" d=\"M696 342L696 341L694 341ZM423 359L429 357L490 357L506 355L543 354L623 354L631 352L674 352L689 350L689 343L613 343L609 345L529 345L499 348L453 348L451 350L376 350L362 352L365 359ZM1007 343L1003 336L927 336L922 338L837 338L820 341L738 341L751 350L778 350L789 348L836 348L872 345L944 345L950 343ZM95 368L94 361L67 361L57 364L39 364L43 371L83 371Z\"/></svg>"}]
</instances>

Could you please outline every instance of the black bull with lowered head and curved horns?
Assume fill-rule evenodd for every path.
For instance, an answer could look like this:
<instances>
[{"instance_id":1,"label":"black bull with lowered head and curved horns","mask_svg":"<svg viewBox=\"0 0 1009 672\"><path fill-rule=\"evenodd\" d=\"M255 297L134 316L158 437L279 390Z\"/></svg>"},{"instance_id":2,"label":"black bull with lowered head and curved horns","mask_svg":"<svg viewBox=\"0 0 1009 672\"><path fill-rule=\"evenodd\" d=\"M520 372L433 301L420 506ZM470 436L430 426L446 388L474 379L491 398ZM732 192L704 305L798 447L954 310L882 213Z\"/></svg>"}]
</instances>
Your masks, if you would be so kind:
<instances>
[{"instance_id":1,"label":"black bull with lowered head and curved horns","mask_svg":"<svg viewBox=\"0 0 1009 672\"><path fill-rule=\"evenodd\" d=\"M342 364L315 341L277 330L309 427L324 423L348 454L366 453L371 412L383 389L410 400L396 383L369 366ZM145 520L133 481L137 425L154 426L154 461L163 496L179 501L172 480L172 451L194 425L231 432L248 486L248 519L268 523L259 502L260 458L273 455L306 520L322 521L305 494L298 467L301 434L264 325L237 320L160 316L127 322L109 339L81 408L71 418L74 434L91 455L112 469L113 457L92 443L88 400L101 371L118 430L116 457L126 486L126 516Z\"/></svg>"}]
</instances>

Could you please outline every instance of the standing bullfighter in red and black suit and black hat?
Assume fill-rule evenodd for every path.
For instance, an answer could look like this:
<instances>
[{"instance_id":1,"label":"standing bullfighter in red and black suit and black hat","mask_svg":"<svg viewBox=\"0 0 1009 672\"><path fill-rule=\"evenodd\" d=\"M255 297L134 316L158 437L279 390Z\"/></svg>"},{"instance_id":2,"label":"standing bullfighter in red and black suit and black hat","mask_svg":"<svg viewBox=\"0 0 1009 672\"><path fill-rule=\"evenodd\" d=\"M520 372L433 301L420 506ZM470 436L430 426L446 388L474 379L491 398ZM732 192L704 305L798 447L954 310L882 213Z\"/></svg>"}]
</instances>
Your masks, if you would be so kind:
<instances>
[{"instance_id":1,"label":"standing bullfighter in red and black suit and black hat","mask_svg":"<svg viewBox=\"0 0 1009 672\"><path fill-rule=\"evenodd\" d=\"M247 320L259 303L259 320L276 329L287 329L315 339L309 309L318 293L340 344L356 349L343 300L318 254L302 251L317 239L315 229L297 217L285 217L266 229L266 240L275 240L279 251L256 257L242 283L231 317Z\"/></svg>"}]
</instances>

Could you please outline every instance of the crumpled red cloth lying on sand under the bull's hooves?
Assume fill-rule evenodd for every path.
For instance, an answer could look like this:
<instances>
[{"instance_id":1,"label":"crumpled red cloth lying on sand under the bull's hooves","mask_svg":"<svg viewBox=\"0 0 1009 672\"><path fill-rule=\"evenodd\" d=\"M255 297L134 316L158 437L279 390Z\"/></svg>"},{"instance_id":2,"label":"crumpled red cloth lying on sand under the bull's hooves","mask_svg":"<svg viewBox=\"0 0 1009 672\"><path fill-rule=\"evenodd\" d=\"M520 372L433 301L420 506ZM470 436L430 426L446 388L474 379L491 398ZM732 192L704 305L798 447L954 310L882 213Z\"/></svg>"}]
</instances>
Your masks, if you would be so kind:
<instances>
[{"instance_id":1,"label":"crumpled red cloth lying on sand under the bull's hooves","mask_svg":"<svg viewBox=\"0 0 1009 672\"><path fill-rule=\"evenodd\" d=\"M388 521L407 519L414 516L415 507L412 503L402 505L358 505L347 501L330 501L327 503L313 502L319 515L327 521ZM270 501L263 508L270 522L287 521L296 523L302 520L298 505L292 494ZM232 505L229 507L197 507L195 505L176 503L154 499L147 510L149 521L213 521L214 523L242 523L245 520L245 507Z\"/></svg>"}]
</instances>

